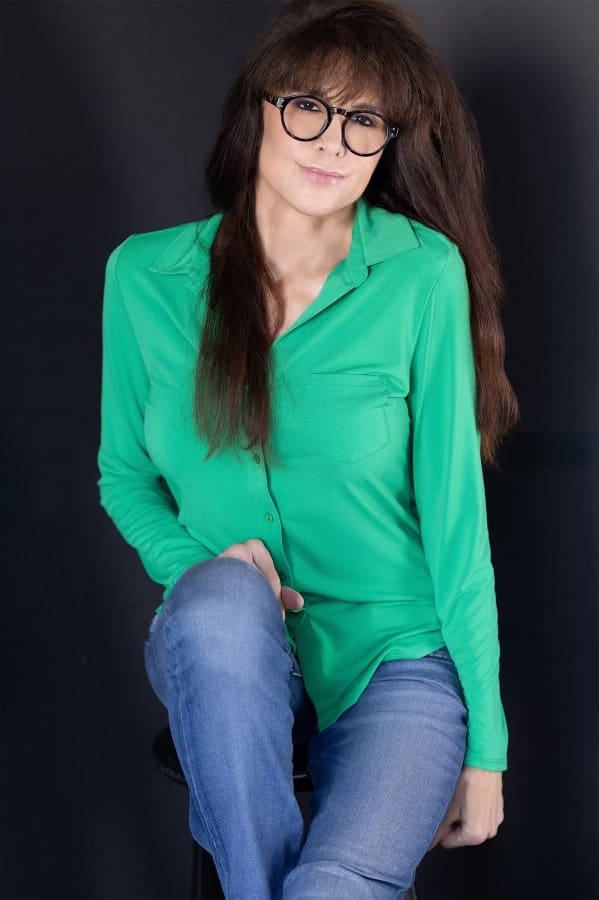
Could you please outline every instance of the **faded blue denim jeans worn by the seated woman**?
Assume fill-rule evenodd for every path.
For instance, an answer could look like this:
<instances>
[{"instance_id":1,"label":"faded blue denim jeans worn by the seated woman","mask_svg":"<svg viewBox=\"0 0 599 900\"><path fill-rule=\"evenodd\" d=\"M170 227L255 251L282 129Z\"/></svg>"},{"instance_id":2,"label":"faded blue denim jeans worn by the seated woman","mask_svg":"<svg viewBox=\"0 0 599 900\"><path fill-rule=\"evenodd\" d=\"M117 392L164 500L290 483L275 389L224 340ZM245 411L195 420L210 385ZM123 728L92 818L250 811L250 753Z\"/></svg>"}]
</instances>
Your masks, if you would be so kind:
<instances>
[{"instance_id":1,"label":"faded blue denim jeans worn by the seated woman","mask_svg":"<svg viewBox=\"0 0 599 900\"><path fill-rule=\"evenodd\" d=\"M189 786L191 833L227 900L402 900L466 752L446 648L383 662L318 732L274 591L244 560L215 557L180 576L144 653ZM293 789L298 738L310 739L307 829Z\"/></svg>"}]
</instances>

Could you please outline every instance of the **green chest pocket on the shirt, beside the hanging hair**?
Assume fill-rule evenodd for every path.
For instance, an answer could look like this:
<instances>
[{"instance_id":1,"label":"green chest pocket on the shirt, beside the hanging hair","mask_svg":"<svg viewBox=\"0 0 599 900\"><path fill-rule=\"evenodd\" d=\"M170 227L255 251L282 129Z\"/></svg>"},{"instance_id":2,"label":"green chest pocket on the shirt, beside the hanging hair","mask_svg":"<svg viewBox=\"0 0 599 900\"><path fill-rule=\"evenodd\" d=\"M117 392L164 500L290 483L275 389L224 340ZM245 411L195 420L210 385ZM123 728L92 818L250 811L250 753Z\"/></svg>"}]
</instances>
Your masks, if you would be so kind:
<instances>
[{"instance_id":1,"label":"green chest pocket on the shirt, beside the hanging hair","mask_svg":"<svg viewBox=\"0 0 599 900\"><path fill-rule=\"evenodd\" d=\"M389 404L380 375L313 372L279 390L275 445L284 458L357 463L389 443Z\"/></svg>"}]
</instances>

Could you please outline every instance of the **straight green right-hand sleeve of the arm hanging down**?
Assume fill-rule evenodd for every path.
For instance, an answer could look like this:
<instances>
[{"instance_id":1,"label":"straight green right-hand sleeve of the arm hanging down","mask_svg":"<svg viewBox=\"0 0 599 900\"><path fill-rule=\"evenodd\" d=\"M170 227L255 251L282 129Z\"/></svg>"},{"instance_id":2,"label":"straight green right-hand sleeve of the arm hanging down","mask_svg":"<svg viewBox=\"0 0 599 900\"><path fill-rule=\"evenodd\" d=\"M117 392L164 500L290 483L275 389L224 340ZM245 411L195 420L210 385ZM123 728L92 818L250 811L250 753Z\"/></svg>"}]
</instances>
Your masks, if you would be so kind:
<instances>
[{"instance_id":1,"label":"straight green right-hand sleeve of the arm hanging down","mask_svg":"<svg viewBox=\"0 0 599 900\"><path fill-rule=\"evenodd\" d=\"M508 731L499 684L469 288L455 244L419 324L408 403L421 538L441 631L469 712L464 763L504 771Z\"/></svg>"}]
</instances>

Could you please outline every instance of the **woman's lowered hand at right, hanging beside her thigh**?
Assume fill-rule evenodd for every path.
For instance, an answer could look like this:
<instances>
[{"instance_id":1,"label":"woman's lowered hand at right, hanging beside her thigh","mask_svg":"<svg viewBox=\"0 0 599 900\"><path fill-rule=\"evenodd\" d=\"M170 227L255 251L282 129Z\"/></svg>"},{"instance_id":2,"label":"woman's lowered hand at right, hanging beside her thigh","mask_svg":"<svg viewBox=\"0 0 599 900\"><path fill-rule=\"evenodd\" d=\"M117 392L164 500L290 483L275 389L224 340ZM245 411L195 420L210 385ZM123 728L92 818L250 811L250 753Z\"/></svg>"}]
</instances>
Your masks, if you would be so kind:
<instances>
[{"instance_id":1,"label":"woman's lowered hand at right, hanging beside her thigh","mask_svg":"<svg viewBox=\"0 0 599 900\"><path fill-rule=\"evenodd\" d=\"M453 799L428 851L482 844L503 822L503 773L464 766ZM427 852L428 852L427 851Z\"/></svg>"}]
</instances>

